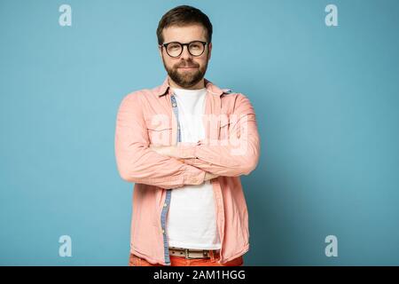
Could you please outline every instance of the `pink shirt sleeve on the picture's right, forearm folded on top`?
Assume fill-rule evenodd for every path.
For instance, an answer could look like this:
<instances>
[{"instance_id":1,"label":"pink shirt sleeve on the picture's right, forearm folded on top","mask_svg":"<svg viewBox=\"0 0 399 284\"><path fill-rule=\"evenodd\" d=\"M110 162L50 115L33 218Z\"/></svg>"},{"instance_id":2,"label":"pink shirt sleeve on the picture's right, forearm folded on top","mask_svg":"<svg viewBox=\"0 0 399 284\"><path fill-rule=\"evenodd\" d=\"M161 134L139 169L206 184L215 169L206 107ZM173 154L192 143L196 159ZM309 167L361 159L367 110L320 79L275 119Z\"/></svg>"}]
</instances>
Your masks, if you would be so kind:
<instances>
[{"instance_id":1,"label":"pink shirt sleeve on the picture's right, forearm folded on top","mask_svg":"<svg viewBox=\"0 0 399 284\"><path fill-rule=\"evenodd\" d=\"M238 95L228 125L227 139L179 143L177 156L187 164L219 176L248 175L259 161L260 139L254 107L243 94Z\"/></svg>"}]
</instances>

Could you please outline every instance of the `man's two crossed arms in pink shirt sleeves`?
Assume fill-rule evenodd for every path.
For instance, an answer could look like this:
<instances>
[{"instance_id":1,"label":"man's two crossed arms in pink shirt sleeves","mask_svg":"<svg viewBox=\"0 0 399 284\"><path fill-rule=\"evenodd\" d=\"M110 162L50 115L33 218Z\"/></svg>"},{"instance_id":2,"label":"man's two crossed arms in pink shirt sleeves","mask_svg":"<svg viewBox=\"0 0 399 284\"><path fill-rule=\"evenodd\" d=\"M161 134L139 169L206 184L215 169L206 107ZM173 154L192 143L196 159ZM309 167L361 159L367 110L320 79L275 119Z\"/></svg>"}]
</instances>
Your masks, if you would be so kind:
<instances>
[{"instance_id":1,"label":"man's two crossed arms in pink shirt sleeves","mask_svg":"<svg viewBox=\"0 0 399 284\"><path fill-rule=\"evenodd\" d=\"M177 188L200 185L218 176L248 175L259 160L259 134L249 99L242 94L236 99L233 114L239 119L229 124L227 143L153 146L148 139L138 96L134 93L126 96L118 110L114 140L121 178L161 188Z\"/></svg>"}]
</instances>

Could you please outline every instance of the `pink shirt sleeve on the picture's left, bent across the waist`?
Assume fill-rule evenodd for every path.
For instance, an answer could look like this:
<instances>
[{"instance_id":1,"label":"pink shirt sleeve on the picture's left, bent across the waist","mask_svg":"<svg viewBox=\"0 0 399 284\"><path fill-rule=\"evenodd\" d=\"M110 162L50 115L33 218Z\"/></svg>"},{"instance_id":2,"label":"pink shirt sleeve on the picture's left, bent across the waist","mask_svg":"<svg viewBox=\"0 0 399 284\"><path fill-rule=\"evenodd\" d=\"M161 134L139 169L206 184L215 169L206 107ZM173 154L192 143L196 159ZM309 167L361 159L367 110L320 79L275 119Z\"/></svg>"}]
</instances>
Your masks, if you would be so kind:
<instances>
[{"instance_id":1,"label":"pink shirt sleeve on the picture's left, bent across the waist","mask_svg":"<svg viewBox=\"0 0 399 284\"><path fill-rule=\"evenodd\" d=\"M137 93L121 101L116 117L114 151L122 179L161 188L200 185L205 170L151 150Z\"/></svg>"}]
</instances>

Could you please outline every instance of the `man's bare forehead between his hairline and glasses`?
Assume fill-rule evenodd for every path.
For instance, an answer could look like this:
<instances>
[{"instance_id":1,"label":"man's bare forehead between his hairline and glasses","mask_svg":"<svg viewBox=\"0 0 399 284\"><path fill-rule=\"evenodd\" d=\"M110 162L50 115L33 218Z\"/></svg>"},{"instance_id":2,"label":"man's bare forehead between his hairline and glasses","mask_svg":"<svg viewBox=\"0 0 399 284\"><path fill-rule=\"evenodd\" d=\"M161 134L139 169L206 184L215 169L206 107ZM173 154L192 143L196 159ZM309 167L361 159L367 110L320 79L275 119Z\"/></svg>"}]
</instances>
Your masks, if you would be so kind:
<instances>
[{"instance_id":1,"label":"man's bare forehead between his hairline and glasses","mask_svg":"<svg viewBox=\"0 0 399 284\"><path fill-rule=\"evenodd\" d=\"M201 25L190 25L184 27L171 26L164 28L162 33L165 43L189 43L192 41L207 40L207 30Z\"/></svg>"}]
</instances>

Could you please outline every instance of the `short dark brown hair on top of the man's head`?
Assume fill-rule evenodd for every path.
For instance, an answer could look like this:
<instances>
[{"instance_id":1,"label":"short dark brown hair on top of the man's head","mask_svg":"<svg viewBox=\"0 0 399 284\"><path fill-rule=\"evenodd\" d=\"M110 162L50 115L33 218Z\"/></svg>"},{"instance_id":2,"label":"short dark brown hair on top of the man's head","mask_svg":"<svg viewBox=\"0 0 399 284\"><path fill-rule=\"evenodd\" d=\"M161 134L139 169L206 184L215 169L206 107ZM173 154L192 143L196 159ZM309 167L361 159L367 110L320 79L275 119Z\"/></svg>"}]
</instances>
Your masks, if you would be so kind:
<instances>
[{"instance_id":1,"label":"short dark brown hair on top of the man's head","mask_svg":"<svg viewBox=\"0 0 399 284\"><path fill-rule=\"evenodd\" d=\"M207 15L189 5L180 5L162 16L157 28L158 44L163 43L162 30L171 26L188 26L192 24L200 24L207 29L207 42L212 41L212 24Z\"/></svg>"}]
</instances>

